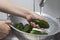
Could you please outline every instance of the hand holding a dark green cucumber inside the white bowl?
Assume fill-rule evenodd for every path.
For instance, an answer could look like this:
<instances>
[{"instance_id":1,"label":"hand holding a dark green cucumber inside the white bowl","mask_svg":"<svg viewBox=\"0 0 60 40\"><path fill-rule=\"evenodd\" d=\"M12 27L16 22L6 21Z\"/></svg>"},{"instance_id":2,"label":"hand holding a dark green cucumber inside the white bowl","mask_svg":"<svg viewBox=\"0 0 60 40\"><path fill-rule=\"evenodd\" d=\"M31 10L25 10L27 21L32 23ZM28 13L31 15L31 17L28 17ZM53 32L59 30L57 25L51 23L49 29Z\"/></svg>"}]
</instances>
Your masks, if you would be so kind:
<instances>
[{"instance_id":1,"label":"hand holding a dark green cucumber inside the white bowl","mask_svg":"<svg viewBox=\"0 0 60 40\"><path fill-rule=\"evenodd\" d=\"M33 19L38 19L38 20L44 20L44 21L46 21L45 18L43 18L42 16L40 16L40 15L38 15L38 14L36 14L36 13L33 13L33 14L31 14L31 15L27 15L27 16L26 16L26 19L29 21L29 23L31 24L31 26L33 26L33 27L38 27L38 28L39 28L39 25L35 24L35 23L32 22L31 20L33 20ZM46 21L46 22L47 22L47 21Z\"/></svg>"}]
</instances>

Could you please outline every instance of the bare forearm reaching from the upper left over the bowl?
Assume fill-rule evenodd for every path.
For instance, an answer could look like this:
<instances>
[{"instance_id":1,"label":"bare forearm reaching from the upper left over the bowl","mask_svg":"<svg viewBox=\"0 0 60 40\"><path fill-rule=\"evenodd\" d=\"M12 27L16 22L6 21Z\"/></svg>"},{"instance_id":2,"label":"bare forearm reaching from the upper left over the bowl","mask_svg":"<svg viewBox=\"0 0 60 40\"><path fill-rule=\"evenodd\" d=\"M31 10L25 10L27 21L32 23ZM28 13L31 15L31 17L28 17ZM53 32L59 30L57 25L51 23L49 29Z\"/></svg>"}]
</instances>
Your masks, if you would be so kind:
<instances>
[{"instance_id":1,"label":"bare forearm reaching from the upper left over the bowl","mask_svg":"<svg viewBox=\"0 0 60 40\"><path fill-rule=\"evenodd\" d=\"M30 15L32 13L30 10L17 6L8 0L0 2L0 11L22 17L25 17L26 15Z\"/></svg>"}]
</instances>

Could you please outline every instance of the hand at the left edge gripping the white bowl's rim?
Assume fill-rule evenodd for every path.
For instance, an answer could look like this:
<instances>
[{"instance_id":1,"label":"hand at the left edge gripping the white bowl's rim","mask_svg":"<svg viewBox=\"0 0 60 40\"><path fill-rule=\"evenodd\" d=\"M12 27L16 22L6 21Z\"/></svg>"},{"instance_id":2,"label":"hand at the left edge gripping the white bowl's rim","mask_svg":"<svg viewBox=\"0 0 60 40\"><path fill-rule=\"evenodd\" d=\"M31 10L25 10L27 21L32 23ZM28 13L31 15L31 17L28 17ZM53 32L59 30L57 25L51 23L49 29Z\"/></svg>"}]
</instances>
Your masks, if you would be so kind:
<instances>
[{"instance_id":1,"label":"hand at the left edge gripping the white bowl's rim","mask_svg":"<svg viewBox=\"0 0 60 40\"><path fill-rule=\"evenodd\" d=\"M10 32L9 24L11 24L10 20L0 21L0 39L6 37Z\"/></svg>"}]
</instances>

